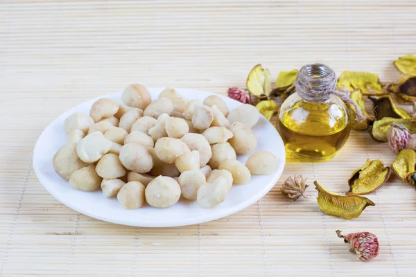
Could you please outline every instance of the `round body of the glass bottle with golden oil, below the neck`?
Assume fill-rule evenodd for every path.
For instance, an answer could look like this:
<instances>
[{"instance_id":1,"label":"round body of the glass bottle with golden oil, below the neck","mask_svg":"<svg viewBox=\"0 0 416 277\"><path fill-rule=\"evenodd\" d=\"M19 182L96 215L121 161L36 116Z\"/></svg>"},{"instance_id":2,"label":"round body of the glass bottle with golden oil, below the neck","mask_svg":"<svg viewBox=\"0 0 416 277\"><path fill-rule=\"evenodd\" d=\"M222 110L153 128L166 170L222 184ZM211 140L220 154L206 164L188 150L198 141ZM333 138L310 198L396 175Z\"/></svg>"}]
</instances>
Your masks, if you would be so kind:
<instances>
[{"instance_id":1,"label":"round body of the glass bottle with golden oil, below the neck","mask_svg":"<svg viewBox=\"0 0 416 277\"><path fill-rule=\"evenodd\" d=\"M279 115L277 129L287 152L304 161L327 161L347 141L350 124L340 105L300 100Z\"/></svg>"}]
</instances>

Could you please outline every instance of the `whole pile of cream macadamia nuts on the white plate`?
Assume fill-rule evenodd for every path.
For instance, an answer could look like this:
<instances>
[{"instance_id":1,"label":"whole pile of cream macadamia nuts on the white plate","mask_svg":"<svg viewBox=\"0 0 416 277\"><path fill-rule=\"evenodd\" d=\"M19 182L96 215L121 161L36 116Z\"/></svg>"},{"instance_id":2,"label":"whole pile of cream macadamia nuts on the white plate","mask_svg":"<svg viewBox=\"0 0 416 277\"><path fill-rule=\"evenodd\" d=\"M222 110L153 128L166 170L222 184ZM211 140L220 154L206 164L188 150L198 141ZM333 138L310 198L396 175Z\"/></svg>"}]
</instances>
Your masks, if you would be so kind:
<instances>
[{"instance_id":1,"label":"whole pile of cream macadamia nuts on the white plate","mask_svg":"<svg viewBox=\"0 0 416 277\"><path fill-rule=\"evenodd\" d=\"M72 188L101 188L128 209L145 202L166 208L181 195L211 208L233 184L275 171L277 159L268 151L251 154L245 165L236 159L257 148L252 127L260 114L252 105L229 111L219 96L189 101L171 88L152 102L140 84L128 86L121 100L124 105L102 98L89 116L65 120L67 141L53 166Z\"/></svg>"}]
</instances>

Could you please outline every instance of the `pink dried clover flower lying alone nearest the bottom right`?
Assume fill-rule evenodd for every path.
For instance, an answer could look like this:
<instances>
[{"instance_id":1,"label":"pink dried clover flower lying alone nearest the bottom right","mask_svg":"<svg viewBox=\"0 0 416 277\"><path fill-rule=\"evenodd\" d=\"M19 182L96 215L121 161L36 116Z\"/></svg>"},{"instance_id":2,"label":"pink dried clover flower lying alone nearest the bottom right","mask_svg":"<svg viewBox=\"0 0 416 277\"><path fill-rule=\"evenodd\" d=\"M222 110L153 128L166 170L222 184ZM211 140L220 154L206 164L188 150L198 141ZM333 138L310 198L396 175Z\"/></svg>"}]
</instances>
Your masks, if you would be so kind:
<instances>
[{"instance_id":1,"label":"pink dried clover flower lying alone nearest the bottom right","mask_svg":"<svg viewBox=\"0 0 416 277\"><path fill-rule=\"evenodd\" d=\"M349 243L351 246L349 251L356 253L358 259L362 261L372 260L379 254L379 240L373 233L358 232L341 235L341 231L337 230L336 234L339 238L343 238L345 243Z\"/></svg>"}]
</instances>

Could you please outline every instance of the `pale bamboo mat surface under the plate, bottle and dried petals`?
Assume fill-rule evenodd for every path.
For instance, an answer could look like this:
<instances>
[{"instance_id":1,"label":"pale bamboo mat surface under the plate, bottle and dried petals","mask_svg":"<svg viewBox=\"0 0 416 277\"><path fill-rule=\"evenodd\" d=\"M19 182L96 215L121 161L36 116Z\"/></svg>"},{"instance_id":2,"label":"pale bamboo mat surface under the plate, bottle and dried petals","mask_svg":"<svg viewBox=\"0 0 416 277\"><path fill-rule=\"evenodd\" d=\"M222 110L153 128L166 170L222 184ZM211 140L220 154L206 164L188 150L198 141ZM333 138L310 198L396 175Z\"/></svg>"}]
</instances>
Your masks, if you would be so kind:
<instances>
[{"instance_id":1,"label":"pale bamboo mat surface under the plate, bottle and dried petals","mask_svg":"<svg viewBox=\"0 0 416 277\"><path fill-rule=\"evenodd\" d=\"M414 53L414 1L0 1L0 276L415 276L415 188L396 177L361 217L324 215L313 187L292 202L281 183L302 174L338 193L388 145L352 132L327 163L288 159L266 197L214 222L169 229L80 215L33 172L37 137L80 102L130 83L225 93L254 64L281 70L323 62L399 74ZM371 231L379 256L359 262L336 237Z\"/></svg>"}]
</instances>

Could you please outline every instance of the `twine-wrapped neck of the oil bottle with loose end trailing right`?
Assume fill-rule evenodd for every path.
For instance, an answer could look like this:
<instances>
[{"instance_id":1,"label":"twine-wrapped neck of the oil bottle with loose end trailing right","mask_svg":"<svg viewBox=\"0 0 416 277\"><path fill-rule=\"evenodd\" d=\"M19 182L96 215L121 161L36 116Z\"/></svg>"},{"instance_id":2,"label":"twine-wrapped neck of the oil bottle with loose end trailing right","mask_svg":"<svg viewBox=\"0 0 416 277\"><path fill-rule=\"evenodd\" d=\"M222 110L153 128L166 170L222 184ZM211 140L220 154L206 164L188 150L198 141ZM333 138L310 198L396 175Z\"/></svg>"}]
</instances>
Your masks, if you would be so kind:
<instances>
[{"instance_id":1,"label":"twine-wrapped neck of the oil bottle with loose end trailing right","mask_svg":"<svg viewBox=\"0 0 416 277\"><path fill-rule=\"evenodd\" d=\"M351 104L356 109L357 121L363 122L365 116L356 102L349 98L349 93L338 91L336 89L335 72L324 64L306 64L302 66L297 74L295 87L300 98L309 102L327 103L331 100L332 95L336 95L344 102Z\"/></svg>"}]
</instances>

